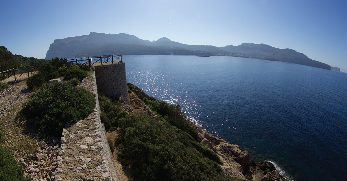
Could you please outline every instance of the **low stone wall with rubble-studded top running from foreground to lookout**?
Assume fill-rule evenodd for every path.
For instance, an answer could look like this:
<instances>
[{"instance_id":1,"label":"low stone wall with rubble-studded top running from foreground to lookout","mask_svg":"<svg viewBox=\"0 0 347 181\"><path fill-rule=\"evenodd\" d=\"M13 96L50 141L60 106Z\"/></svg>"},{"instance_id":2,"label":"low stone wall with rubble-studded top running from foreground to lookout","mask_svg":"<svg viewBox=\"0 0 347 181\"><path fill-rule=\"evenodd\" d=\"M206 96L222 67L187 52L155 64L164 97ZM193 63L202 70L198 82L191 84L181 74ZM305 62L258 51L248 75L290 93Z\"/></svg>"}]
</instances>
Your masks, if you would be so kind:
<instances>
[{"instance_id":1,"label":"low stone wall with rubble-studded top running from foreground to lookout","mask_svg":"<svg viewBox=\"0 0 347 181\"><path fill-rule=\"evenodd\" d=\"M86 119L66 125L58 149L55 180L119 181L108 146L105 129L100 121L100 107L95 74L85 78L81 87L96 94L96 107Z\"/></svg>"}]
</instances>

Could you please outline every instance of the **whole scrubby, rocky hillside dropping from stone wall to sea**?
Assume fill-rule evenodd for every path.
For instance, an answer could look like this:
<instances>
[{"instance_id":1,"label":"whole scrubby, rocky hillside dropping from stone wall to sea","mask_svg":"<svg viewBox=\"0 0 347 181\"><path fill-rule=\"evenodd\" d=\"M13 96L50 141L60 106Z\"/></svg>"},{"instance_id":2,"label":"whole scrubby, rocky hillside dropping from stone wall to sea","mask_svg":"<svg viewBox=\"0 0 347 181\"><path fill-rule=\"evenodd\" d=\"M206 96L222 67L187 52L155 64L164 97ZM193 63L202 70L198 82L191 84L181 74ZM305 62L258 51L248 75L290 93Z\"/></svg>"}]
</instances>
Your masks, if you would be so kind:
<instances>
[{"instance_id":1,"label":"whole scrubby, rocky hillside dropping from stone wall to sea","mask_svg":"<svg viewBox=\"0 0 347 181\"><path fill-rule=\"evenodd\" d=\"M135 180L287 181L271 163L254 163L247 150L187 120L179 105L128 88L131 105L100 94L99 102L106 130L117 134L117 159Z\"/></svg>"}]
</instances>

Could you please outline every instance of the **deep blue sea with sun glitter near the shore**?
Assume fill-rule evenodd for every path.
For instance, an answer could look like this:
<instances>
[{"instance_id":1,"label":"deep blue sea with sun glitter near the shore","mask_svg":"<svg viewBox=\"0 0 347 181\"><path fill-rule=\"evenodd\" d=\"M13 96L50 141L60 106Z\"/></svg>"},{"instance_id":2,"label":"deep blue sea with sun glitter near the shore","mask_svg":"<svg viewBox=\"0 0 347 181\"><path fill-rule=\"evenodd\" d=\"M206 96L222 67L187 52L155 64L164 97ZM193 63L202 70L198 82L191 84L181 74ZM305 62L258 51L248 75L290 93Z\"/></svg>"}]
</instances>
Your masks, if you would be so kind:
<instances>
[{"instance_id":1,"label":"deep blue sea with sun glitter near the shore","mask_svg":"<svg viewBox=\"0 0 347 181\"><path fill-rule=\"evenodd\" d=\"M346 179L347 74L239 57L122 56L127 81L297 181Z\"/></svg>"}]
</instances>

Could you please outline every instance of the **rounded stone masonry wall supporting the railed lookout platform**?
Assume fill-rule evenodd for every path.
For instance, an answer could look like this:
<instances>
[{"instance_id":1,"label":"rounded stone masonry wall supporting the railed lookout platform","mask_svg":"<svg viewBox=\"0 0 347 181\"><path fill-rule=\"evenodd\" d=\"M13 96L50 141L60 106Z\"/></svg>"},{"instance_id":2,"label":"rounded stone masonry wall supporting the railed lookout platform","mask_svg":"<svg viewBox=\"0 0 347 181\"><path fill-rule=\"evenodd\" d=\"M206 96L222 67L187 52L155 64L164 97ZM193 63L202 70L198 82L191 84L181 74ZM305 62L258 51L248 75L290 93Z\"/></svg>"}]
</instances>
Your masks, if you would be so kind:
<instances>
[{"instance_id":1,"label":"rounded stone masonry wall supporting the railed lookout platform","mask_svg":"<svg viewBox=\"0 0 347 181\"><path fill-rule=\"evenodd\" d=\"M99 69L99 66L97 67ZM122 96L124 100L130 104L127 77L125 72L125 63L102 65L100 66L102 73L103 89L107 96Z\"/></svg>"}]
</instances>

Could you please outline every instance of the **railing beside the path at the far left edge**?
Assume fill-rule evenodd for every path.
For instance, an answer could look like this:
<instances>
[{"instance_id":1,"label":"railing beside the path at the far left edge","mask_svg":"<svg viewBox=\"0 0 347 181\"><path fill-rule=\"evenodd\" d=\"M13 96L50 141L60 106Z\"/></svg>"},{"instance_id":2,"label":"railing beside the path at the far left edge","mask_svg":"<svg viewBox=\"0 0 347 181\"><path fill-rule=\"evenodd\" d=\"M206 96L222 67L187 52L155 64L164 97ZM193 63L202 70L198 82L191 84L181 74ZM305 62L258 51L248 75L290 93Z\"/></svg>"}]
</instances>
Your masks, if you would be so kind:
<instances>
[{"instance_id":1,"label":"railing beside the path at the far left edge","mask_svg":"<svg viewBox=\"0 0 347 181\"><path fill-rule=\"evenodd\" d=\"M1 79L3 80L3 82L7 81L11 76L15 77L15 81L22 76L23 74L28 73L28 77L30 77L31 75L33 75L36 71L37 71L37 67L40 67L41 64L36 64L36 65L29 65L29 66L25 66L25 67L17 67L17 68L12 68L9 69L7 71L3 71L0 72L1 75ZM31 70L31 71L29 71ZM20 74L17 75L16 74Z\"/></svg>"}]
</instances>

